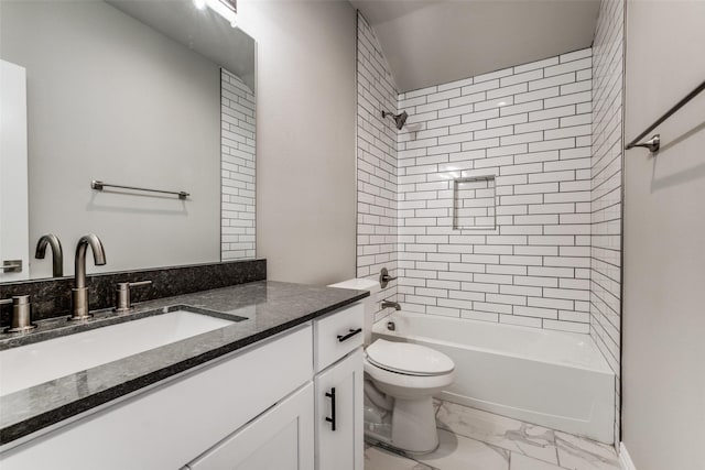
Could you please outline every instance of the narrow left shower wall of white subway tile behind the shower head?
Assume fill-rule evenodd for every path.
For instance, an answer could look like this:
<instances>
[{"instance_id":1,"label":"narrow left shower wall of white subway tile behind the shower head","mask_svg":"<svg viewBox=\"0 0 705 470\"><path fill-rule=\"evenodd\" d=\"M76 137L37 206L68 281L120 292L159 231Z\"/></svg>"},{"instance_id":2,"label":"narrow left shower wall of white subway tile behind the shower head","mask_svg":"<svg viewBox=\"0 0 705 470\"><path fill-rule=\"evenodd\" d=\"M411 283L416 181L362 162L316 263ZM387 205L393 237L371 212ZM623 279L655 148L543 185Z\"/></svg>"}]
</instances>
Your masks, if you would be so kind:
<instances>
[{"instance_id":1,"label":"narrow left shower wall of white subway tile behind the shower head","mask_svg":"<svg viewBox=\"0 0 705 470\"><path fill-rule=\"evenodd\" d=\"M357 19L357 276L377 280L382 267L397 276L397 128L381 112L397 112L398 92L375 32ZM397 300L395 281L382 299Z\"/></svg>"}]
</instances>

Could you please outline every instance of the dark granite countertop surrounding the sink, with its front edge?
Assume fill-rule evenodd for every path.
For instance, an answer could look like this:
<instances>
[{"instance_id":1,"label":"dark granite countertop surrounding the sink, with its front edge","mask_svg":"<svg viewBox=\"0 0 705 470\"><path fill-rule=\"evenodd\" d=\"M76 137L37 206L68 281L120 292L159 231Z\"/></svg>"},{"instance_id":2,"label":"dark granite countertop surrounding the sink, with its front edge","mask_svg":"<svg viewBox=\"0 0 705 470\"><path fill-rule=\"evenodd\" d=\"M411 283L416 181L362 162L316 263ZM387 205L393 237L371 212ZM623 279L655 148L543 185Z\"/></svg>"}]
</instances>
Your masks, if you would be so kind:
<instances>
[{"instance_id":1,"label":"dark granite countertop surrounding the sink, with its front edge","mask_svg":"<svg viewBox=\"0 0 705 470\"><path fill-rule=\"evenodd\" d=\"M12 335L1 339L0 350L36 342L37 339L45 340L111 325L126 316L130 319L143 318L174 305L187 305L216 310L226 316L248 318L1 396L0 445L285 331L368 295L366 291L260 281L144 302L134 305L134 309L129 314L99 311L82 325L68 323L66 317L43 320L30 335Z\"/></svg>"}]
</instances>

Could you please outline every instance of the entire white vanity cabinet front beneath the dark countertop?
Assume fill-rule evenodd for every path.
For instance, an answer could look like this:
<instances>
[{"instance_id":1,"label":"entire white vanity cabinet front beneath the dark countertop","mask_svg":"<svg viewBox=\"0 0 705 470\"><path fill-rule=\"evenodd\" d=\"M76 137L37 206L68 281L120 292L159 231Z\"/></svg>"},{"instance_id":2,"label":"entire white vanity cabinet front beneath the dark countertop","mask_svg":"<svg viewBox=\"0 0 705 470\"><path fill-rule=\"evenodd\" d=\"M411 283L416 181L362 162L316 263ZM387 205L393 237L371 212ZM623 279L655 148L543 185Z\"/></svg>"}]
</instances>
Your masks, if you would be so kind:
<instances>
[{"instance_id":1,"label":"entire white vanity cabinet front beneath the dark countertop","mask_svg":"<svg viewBox=\"0 0 705 470\"><path fill-rule=\"evenodd\" d=\"M361 326L355 304L294 327L12 442L0 468L362 470Z\"/></svg>"}]
</instances>

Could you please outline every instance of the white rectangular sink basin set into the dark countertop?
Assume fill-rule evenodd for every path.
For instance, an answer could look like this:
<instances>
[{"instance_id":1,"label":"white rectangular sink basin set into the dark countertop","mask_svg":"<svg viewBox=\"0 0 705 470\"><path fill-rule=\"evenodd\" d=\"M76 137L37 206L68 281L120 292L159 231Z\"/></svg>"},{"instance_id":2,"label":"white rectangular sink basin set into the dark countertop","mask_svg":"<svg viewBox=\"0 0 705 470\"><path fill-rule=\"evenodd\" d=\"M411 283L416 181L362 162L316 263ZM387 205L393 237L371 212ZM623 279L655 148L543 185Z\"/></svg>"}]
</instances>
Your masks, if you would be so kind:
<instances>
[{"instance_id":1,"label":"white rectangular sink basin set into the dark countertop","mask_svg":"<svg viewBox=\"0 0 705 470\"><path fill-rule=\"evenodd\" d=\"M175 310L0 351L0 396L234 323Z\"/></svg>"}]
</instances>

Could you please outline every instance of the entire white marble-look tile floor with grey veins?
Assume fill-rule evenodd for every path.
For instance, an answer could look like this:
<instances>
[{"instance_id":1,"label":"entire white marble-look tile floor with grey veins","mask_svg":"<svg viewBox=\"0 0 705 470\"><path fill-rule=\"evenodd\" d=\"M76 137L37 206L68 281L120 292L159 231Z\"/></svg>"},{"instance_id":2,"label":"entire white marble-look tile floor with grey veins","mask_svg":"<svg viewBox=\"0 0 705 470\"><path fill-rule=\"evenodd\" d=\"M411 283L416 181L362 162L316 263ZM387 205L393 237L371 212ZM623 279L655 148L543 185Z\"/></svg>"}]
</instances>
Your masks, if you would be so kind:
<instances>
[{"instance_id":1,"label":"entire white marble-look tile floor with grey veins","mask_svg":"<svg viewBox=\"0 0 705 470\"><path fill-rule=\"evenodd\" d=\"M441 445L408 457L366 445L365 470L620 470L615 449L449 402L436 403Z\"/></svg>"}]
</instances>

